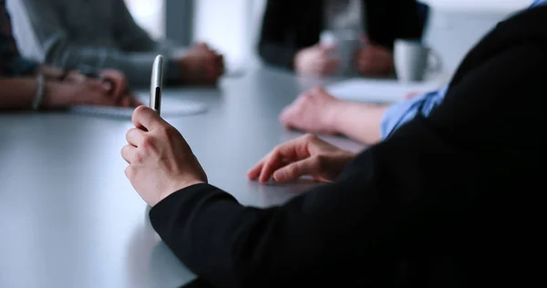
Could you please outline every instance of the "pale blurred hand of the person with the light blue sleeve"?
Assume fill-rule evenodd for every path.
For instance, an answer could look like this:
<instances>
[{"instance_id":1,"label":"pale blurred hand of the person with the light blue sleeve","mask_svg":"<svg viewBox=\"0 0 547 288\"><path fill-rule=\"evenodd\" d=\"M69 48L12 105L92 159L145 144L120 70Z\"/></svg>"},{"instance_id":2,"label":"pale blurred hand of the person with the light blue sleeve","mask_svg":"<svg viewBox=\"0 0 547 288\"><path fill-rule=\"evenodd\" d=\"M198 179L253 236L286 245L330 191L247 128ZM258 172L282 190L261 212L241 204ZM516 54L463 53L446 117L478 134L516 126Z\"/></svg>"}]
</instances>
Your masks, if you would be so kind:
<instances>
[{"instance_id":1,"label":"pale blurred hand of the person with the light blue sleeve","mask_svg":"<svg viewBox=\"0 0 547 288\"><path fill-rule=\"evenodd\" d=\"M280 120L284 127L314 133L335 134L335 114L341 101L321 87L304 92L284 108Z\"/></svg>"}]
</instances>

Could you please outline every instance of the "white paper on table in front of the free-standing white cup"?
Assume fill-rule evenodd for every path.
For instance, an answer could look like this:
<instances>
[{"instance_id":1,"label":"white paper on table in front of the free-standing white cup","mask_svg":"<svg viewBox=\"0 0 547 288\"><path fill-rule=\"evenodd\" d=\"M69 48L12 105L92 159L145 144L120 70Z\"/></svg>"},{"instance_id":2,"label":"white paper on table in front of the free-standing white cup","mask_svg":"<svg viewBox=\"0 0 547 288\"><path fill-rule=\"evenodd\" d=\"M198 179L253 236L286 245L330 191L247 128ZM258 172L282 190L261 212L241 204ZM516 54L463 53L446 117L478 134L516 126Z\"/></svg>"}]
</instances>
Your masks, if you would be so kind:
<instances>
[{"instance_id":1,"label":"white paper on table in front of the free-standing white cup","mask_svg":"<svg viewBox=\"0 0 547 288\"><path fill-rule=\"evenodd\" d=\"M397 80L347 79L326 87L335 98L372 103L394 103L410 92L426 93L443 87L441 82L399 83Z\"/></svg>"}]
</instances>

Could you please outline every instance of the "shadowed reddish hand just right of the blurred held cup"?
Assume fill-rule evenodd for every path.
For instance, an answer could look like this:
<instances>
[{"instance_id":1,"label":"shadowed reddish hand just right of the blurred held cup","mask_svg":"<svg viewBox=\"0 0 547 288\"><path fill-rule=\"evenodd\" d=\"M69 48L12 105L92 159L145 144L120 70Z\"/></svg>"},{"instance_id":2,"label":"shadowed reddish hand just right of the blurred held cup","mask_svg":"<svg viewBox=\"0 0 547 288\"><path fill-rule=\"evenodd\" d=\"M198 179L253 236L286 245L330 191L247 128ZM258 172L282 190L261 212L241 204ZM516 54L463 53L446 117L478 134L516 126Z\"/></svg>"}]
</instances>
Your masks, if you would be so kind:
<instances>
[{"instance_id":1,"label":"shadowed reddish hand just right of the blurred held cup","mask_svg":"<svg viewBox=\"0 0 547 288\"><path fill-rule=\"evenodd\" d=\"M361 37L364 46L356 52L357 71L364 76L386 76L393 71L393 53L383 46L370 43Z\"/></svg>"}]
</instances>

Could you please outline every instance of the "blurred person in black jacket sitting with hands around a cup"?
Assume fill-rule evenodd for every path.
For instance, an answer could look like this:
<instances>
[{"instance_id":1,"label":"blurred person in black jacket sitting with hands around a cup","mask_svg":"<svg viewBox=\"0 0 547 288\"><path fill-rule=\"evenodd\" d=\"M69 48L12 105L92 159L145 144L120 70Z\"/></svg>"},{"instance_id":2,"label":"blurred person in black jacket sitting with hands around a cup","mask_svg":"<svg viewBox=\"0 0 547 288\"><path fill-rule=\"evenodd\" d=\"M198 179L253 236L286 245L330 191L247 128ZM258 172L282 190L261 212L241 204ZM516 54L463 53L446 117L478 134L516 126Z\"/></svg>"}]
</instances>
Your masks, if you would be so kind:
<instances>
[{"instance_id":1,"label":"blurred person in black jacket sitting with hands around a cup","mask_svg":"<svg viewBox=\"0 0 547 288\"><path fill-rule=\"evenodd\" d=\"M425 20L414 0L268 0L258 52L267 64L302 75L328 76L340 65L335 46L320 43L323 31L346 31L359 37L356 70L364 76L393 71L397 38L419 39Z\"/></svg>"}]
</instances>

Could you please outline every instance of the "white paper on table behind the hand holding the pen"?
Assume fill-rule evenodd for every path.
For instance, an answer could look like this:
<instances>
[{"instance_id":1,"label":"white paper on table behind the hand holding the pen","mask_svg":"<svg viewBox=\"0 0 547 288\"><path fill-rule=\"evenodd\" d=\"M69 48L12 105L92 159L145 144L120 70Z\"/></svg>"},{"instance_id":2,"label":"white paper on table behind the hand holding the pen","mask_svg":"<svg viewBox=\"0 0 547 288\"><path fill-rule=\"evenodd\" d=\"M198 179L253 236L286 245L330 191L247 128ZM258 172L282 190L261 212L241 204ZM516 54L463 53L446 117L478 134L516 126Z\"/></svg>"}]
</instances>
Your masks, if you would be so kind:
<instances>
[{"instance_id":1,"label":"white paper on table behind the hand holding the pen","mask_svg":"<svg viewBox=\"0 0 547 288\"><path fill-rule=\"evenodd\" d=\"M144 105L149 105L150 98L145 95L139 95L139 100ZM115 108L100 106L73 106L68 108L69 112L78 114L88 114L98 117L108 118L131 118L134 108ZM161 117L181 117L195 115L207 111L207 106L200 102L182 100L174 97L161 98Z\"/></svg>"}]
</instances>

